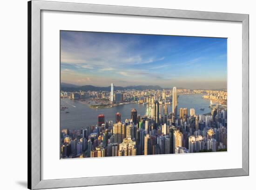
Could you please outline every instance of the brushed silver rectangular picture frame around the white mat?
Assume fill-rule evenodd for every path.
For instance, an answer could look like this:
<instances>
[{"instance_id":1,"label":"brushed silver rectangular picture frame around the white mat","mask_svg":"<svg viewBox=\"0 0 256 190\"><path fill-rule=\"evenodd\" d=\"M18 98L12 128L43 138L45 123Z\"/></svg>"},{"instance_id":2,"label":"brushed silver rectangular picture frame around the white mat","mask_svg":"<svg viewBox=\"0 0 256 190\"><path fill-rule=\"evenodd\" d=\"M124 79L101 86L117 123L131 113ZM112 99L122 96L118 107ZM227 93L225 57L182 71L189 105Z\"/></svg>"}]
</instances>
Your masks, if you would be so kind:
<instances>
[{"instance_id":1,"label":"brushed silver rectangular picture frame around the white mat","mask_svg":"<svg viewBox=\"0 0 256 190\"><path fill-rule=\"evenodd\" d=\"M86 177L41 180L41 65L40 25L41 11L67 11L82 13L105 13L149 17L224 20L242 22L243 27L243 167L228 170L203 170L189 172L154 173L142 175ZM28 188L47 189L93 186L121 183L143 183L211 177L234 177L249 175L249 15L214 13L158 8L120 7L82 3L64 3L32 0L28 2Z\"/></svg>"}]
</instances>

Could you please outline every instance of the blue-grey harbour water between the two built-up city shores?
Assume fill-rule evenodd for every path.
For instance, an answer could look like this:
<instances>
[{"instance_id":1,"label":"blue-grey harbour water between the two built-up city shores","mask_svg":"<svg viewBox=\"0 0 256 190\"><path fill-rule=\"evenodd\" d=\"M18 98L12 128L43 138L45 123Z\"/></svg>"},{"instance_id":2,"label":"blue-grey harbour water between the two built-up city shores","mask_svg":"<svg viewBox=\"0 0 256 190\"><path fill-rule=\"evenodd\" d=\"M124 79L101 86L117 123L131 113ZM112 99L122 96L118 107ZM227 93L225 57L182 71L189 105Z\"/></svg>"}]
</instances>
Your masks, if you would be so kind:
<instances>
[{"instance_id":1,"label":"blue-grey harbour water between the two built-up city shores","mask_svg":"<svg viewBox=\"0 0 256 190\"><path fill-rule=\"evenodd\" d=\"M203 95L205 94L180 95L178 98L178 111L179 108L188 108L189 114L189 109L194 108L196 115L209 113L211 111L209 108L210 101L203 99ZM124 121L126 118L131 117L131 109L133 108L137 110L138 115L146 115L149 111L149 105L147 104L125 104L112 108L92 109L84 103L68 98L61 99L61 106L68 107L61 111L61 129L78 129L95 125L99 114L104 114L105 121L115 121L115 113L119 112L121 113L121 120ZM200 110L201 108L204 110ZM170 111L172 111L172 105L168 105L168 113ZM162 105L160 105L160 113L163 114Z\"/></svg>"}]
</instances>

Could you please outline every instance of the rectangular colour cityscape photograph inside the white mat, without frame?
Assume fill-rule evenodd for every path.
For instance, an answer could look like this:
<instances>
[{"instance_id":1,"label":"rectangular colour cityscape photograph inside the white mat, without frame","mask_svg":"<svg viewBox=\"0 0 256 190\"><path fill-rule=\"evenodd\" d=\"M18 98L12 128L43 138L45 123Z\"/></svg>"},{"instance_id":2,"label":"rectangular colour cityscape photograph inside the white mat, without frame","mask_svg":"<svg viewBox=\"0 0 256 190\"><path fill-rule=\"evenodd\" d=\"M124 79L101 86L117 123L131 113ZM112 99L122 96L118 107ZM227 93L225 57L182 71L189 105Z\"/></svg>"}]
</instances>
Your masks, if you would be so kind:
<instances>
[{"instance_id":1,"label":"rectangular colour cityscape photograph inside the white mat, without frame","mask_svg":"<svg viewBox=\"0 0 256 190\"><path fill-rule=\"evenodd\" d=\"M227 39L60 31L61 158L227 151Z\"/></svg>"}]
</instances>

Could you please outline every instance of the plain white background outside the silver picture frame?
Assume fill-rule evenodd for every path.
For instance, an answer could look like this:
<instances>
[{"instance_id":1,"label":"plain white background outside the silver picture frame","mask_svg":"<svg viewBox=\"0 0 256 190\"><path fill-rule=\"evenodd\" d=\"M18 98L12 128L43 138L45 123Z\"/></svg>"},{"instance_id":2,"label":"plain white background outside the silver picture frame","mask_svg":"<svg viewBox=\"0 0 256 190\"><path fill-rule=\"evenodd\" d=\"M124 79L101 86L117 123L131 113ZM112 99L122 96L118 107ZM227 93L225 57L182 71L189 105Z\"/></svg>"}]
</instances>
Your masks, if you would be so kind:
<instances>
[{"instance_id":1,"label":"plain white background outside the silver picture frame","mask_svg":"<svg viewBox=\"0 0 256 190\"><path fill-rule=\"evenodd\" d=\"M55 0L59 1L59 0ZM196 11L249 14L250 54L250 176L136 183L69 188L68 190L128 189L254 189L256 179L256 12L252 0L67 0L92 4L155 7ZM27 188L27 0L0 3L0 187L3 190Z\"/></svg>"}]
</instances>

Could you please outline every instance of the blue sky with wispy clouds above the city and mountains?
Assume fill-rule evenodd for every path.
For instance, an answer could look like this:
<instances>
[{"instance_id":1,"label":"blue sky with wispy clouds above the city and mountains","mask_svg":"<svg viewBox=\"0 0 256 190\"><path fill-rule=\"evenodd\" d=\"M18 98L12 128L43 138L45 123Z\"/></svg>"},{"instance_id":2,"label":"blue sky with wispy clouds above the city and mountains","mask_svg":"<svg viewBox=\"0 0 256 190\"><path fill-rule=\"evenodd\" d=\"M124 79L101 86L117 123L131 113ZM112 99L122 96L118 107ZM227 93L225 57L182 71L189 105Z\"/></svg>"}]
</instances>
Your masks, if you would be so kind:
<instances>
[{"instance_id":1,"label":"blue sky with wispy clouds above the city and mountains","mask_svg":"<svg viewBox=\"0 0 256 190\"><path fill-rule=\"evenodd\" d=\"M227 39L61 31L61 82L227 87Z\"/></svg>"}]
</instances>

